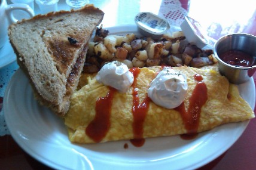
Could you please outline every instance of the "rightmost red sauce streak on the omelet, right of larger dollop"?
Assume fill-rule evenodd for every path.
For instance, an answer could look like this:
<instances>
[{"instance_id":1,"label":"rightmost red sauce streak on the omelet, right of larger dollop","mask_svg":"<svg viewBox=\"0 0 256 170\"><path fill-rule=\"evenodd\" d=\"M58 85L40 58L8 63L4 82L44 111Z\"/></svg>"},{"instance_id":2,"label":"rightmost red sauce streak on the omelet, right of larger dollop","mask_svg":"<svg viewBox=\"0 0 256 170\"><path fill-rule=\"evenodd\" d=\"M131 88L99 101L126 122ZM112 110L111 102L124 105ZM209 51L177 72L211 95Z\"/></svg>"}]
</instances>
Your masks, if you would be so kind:
<instances>
[{"instance_id":1,"label":"rightmost red sauce streak on the omelet, right of larger dollop","mask_svg":"<svg viewBox=\"0 0 256 170\"><path fill-rule=\"evenodd\" d=\"M184 102L175 108L179 113L181 113L182 120L184 122L185 128L187 129L187 134L181 135L181 138L185 140L193 139L197 136L197 129L199 127L200 113L203 105L206 103L207 87L201 75L194 75L194 79L197 82L194 91L189 99L188 110L185 110Z\"/></svg>"}]
</instances>

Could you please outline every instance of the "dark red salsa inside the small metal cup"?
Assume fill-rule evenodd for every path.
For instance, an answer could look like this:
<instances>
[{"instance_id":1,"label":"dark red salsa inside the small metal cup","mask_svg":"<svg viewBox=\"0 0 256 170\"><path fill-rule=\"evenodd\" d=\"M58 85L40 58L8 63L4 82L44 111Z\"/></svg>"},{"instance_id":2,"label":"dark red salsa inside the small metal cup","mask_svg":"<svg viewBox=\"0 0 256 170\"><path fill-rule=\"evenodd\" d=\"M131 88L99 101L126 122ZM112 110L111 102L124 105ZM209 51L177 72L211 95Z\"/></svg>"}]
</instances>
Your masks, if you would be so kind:
<instances>
[{"instance_id":1,"label":"dark red salsa inside the small metal cup","mask_svg":"<svg viewBox=\"0 0 256 170\"><path fill-rule=\"evenodd\" d=\"M254 57L246 52L239 50L229 50L220 55L221 60L225 63L237 67L254 66Z\"/></svg>"}]
</instances>

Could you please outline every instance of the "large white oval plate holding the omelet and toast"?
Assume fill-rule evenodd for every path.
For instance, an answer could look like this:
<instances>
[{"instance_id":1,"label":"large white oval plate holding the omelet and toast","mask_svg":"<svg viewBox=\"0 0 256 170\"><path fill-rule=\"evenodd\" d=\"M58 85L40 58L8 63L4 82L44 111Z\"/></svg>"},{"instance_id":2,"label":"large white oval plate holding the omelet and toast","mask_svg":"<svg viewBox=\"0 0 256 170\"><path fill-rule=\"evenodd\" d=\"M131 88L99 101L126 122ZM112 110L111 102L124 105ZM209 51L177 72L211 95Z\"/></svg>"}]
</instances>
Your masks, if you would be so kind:
<instances>
[{"instance_id":1,"label":"large white oval plate holding the omelet and toast","mask_svg":"<svg viewBox=\"0 0 256 170\"><path fill-rule=\"evenodd\" d=\"M109 31L124 34L137 29L118 26ZM254 108L253 79L239 85L239 90ZM5 92L4 113L20 147L54 169L196 169L224 153L249 122L221 125L200 133L194 140L182 140L179 135L148 138L143 147L133 147L130 141L72 144L63 120L34 100L29 81L20 69ZM124 149L126 143L128 149Z\"/></svg>"}]
</instances>

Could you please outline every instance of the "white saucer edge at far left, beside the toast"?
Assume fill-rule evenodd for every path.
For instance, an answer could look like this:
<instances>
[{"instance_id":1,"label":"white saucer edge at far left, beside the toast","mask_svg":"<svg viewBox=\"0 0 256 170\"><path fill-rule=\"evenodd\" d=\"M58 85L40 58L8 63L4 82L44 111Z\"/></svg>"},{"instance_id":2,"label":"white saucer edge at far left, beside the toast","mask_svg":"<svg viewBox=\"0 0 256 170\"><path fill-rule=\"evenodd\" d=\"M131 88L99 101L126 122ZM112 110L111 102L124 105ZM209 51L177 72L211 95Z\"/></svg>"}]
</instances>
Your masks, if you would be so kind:
<instances>
[{"instance_id":1,"label":"white saucer edge at far left, beside the toast","mask_svg":"<svg viewBox=\"0 0 256 170\"><path fill-rule=\"evenodd\" d=\"M0 48L0 69L8 64L16 61L16 54L9 41L5 42L4 46Z\"/></svg>"}]
</instances>

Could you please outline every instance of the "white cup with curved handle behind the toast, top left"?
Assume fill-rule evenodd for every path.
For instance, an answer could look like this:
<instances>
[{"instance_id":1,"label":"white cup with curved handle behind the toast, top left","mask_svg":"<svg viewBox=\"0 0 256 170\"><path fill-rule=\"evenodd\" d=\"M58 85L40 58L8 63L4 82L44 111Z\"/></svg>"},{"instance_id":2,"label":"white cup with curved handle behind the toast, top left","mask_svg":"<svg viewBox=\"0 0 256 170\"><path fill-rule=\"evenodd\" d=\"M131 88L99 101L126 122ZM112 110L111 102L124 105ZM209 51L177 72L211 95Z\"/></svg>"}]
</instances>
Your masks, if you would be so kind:
<instances>
[{"instance_id":1,"label":"white cup with curved handle behind the toast, top left","mask_svg":"<svg viewBox=\"0 0 256 170\"><path fill-rule=\"evenodd\" d=\"M8 41L8 26L11 23L16 23L18 20L13 15L14 10L26 11L29 16L33 17L35 15L29 5L26 4L10 4L8 5L6 0L0 0L0 48L2 48L5 42Z\"/></svg>"}]
</instances>

